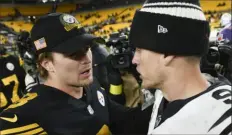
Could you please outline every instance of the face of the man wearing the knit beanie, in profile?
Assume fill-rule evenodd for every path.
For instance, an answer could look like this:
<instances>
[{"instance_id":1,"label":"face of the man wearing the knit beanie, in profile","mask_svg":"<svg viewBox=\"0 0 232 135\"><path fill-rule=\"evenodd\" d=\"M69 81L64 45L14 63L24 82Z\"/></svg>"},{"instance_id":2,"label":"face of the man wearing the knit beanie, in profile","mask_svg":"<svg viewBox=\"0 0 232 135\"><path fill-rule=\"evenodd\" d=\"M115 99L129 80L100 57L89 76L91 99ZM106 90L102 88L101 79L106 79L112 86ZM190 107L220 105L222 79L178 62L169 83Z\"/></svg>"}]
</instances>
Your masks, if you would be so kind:
<instances>
[{"instance_id":1,"label":"face of the man wearing the knit beanie, in profile","mask_svg":"<svg viewBox=\"0 0 232 135\"><path fill-rule=\"evenodd\" d=\"M145 49L136 49L132 63L137 65L137 71L143 80L143 88L157 88L162 83L163 71L160 57L161 54Z\"/></svg>"}]
</instances>

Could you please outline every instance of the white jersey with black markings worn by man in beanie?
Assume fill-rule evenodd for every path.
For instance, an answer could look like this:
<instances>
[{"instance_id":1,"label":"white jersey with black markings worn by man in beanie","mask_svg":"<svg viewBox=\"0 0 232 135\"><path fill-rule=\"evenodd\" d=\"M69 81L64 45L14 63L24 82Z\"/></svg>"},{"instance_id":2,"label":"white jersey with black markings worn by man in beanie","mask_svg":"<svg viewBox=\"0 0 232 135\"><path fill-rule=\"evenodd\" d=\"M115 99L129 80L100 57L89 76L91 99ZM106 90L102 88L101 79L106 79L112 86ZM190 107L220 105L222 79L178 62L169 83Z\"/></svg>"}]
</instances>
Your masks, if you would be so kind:
<instances>
[{"instance_id":1,"label":"white jersey with black markings worn by man in beanie","mask_svg":"<svg viewBox=\"0 0 232 135\"><path fill-rule=\"evenodd\" d=\"M231 134L231 86L221 84L185 104L156 127L158 106L163 98L157 91L148 134ZM158 122L159 123L159 122ZM156 127L156 128L155 128Z\"/></svg>"}]
</instances>

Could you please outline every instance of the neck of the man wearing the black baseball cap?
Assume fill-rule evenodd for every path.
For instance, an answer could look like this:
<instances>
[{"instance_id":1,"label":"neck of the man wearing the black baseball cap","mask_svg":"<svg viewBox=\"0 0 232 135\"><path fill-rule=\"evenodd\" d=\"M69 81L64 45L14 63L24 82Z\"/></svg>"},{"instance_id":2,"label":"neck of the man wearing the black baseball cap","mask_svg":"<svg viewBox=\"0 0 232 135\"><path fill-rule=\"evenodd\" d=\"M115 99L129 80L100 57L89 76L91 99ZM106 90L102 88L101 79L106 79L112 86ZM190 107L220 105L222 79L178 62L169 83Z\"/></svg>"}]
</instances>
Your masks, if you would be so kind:
<instances>
[{"instance_id":1,"label":"neck of the man wearing the black baseball cap","mask_svg":"<svg viewBox=\"0 0 232 135\"><path fill-rule=\"evenodd\" d=\"M44 82L44 85L54 87L60 91L63 91L65 93L69 94L70 96L72 96L76 99L82 98L82 95L83 95L83 87L75 87L75 86L65 85L59 81L53 81L52 79L47 79Z\"/></svg>"}]
</instances>

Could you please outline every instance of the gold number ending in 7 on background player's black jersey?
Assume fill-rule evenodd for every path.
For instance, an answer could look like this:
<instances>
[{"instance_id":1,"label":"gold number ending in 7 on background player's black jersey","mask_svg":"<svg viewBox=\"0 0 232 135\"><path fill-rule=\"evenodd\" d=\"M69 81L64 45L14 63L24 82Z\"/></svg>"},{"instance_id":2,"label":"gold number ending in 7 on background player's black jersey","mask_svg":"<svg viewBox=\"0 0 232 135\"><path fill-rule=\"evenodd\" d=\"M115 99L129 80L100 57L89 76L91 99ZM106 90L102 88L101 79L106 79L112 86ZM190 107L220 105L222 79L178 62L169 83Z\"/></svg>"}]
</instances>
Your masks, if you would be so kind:
<instances>
[{"instance_id":1,"label":"gold number ending in 7 on background player's black jersey","mask_svg":"<svg viewBox=\"0 0 232 135\"><path fill-rule=\"evenodd\" d=\"M12 103L18 101L19 100L19 96L18 96L19 81L18 81L17 76L15 74L13 74L13 75L11 75L9 77L3 78L2 82L3 82L4 86L10 85L11 82L14 82L11 101L12 101ZM6 96L4 95L3 92L1 92L0 94L1 94L0 95L1 96L0 107L5 107L7 105Z\"/></svg>"}]
</instances>

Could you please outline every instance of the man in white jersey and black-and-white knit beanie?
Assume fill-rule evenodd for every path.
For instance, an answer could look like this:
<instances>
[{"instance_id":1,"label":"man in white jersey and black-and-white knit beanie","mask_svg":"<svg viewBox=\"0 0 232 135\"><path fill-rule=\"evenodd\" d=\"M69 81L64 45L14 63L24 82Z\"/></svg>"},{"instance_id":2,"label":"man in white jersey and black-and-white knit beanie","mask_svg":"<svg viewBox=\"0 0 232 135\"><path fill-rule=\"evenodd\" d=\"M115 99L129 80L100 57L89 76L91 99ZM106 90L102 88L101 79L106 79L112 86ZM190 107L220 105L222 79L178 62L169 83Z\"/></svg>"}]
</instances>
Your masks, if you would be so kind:
<instances>
[{"instance_id":1,"label":"man in white jersey and black-and-white knit beanie","mask_svg":"<svg viewBox=\"0 0 232 135\"><path fill-rule=\"evenodd\" d=\"M148 134L231 134L231 85L211 84L200 70L209 24L198 0L147 0L129 40L142 87L161 90Z\"/></svg>"}]
</instances>

